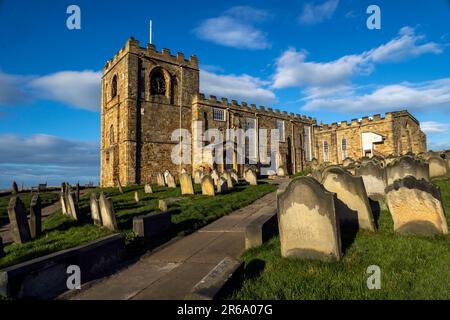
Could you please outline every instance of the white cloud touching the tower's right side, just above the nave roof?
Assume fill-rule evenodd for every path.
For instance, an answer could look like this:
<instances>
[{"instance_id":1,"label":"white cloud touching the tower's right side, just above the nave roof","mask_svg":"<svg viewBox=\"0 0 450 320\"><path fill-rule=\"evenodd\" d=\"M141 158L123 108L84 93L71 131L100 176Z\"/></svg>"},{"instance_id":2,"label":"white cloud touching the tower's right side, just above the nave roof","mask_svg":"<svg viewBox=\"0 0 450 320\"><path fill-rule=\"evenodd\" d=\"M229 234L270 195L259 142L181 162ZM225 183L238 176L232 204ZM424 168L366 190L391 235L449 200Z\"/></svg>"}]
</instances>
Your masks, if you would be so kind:
<instances>
[{"instance_id":1,"label":"white cloud touching the tower's right side, just above the nave roof","mask_svg":"<svg viewBox=\"0 0 450 320\"><path fill-rule=\"evenodd\" d=\"M247 101L248 103L275 103L275 93L268 89L269 82L246 74L222 75L200 71L201 92L218 97Z\"/></svg>"}]
</instances>

